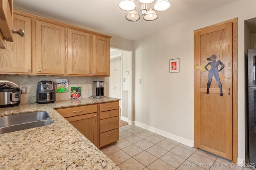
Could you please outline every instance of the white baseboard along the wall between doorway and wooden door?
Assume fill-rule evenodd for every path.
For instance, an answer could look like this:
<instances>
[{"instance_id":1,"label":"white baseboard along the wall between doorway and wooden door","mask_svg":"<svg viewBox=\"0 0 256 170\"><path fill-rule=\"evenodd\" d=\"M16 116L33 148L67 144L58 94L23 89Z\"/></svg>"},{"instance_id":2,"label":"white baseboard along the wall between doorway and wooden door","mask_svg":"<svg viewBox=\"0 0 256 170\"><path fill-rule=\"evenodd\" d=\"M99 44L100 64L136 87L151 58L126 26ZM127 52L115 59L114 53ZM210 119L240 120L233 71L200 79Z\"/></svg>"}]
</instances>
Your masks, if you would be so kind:
<instances>
[{"instance_id":1,"label":"white baseboard along the wall between doorway and wooden door","mask_svg":"<svg viewBox=\"0 0 256 170\"><path fill-rule=\"evenodd\" d=\"M162 135L164 137L167 137L169 139L172 139L174 141L177 141L179 143L182 143L184 145L187 145L189 147L194 147L194 141L190 141L188 139L185 139L183 137L179 137L177 135L174 135L174 134L171 134L171 133L168 133L166 131L162 131L160 129L156 129L154 127L151 127L151 126L148 126L148 125L145 125L143 123L140 123L140 122L137 122L137 121L134 121L134 125L138 126L138 127L141 127L143 129L146 129L148 131L152 131L154 133L157 133L158 135Z\"/></svg>"}]
</instances>

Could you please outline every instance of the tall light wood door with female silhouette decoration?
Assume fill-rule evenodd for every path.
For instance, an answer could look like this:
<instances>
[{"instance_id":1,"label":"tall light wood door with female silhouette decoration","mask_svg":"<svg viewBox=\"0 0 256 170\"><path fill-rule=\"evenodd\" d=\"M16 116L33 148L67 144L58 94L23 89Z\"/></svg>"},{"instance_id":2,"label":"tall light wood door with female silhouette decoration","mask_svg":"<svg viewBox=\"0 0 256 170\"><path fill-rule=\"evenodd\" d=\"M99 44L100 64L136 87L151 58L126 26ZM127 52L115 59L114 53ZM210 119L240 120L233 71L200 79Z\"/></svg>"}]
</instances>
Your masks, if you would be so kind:
<instances>
[{"instance_id":1,"label":"tall light wood door with female silhouette decoration","mask_svg":"<svg viewBox=\"0 0 256 170\"><path fill-rule=\"evenodd\" d=\"M237 69L232 68L232 22L233 20L230 20L194 31L195 147L229 160L234 159L233 71ZM215 60L212 59L214 55ZM209 57L211 59L207 60ZM222 70L221 63L214 64L218 61L224 64ZM212 67L204 70L207 63L212 64ZM216 69L221 71L218 72Z\"/></svg>"}]
</instances>

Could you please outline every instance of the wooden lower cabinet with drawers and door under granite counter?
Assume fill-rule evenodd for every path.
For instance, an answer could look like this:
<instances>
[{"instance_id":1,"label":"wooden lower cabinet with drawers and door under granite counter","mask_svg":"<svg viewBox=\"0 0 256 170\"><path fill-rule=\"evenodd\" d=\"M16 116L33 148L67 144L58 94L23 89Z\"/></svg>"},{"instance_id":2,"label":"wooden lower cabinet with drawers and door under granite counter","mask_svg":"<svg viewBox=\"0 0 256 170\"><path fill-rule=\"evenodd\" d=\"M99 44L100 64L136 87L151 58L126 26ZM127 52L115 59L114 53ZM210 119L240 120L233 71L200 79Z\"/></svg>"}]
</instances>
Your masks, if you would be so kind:
<instances>
[{"instance_id":1,"label":"wooden lower cabinet with drawers and door under granite counter","mask_svg":"<svg viewBox=\"0 0 256 170\"><path fill-rule=\"evenodd\" d=\"M98 148L119 140L119 101L56 111Z\"/></svg>"}]
</instances>

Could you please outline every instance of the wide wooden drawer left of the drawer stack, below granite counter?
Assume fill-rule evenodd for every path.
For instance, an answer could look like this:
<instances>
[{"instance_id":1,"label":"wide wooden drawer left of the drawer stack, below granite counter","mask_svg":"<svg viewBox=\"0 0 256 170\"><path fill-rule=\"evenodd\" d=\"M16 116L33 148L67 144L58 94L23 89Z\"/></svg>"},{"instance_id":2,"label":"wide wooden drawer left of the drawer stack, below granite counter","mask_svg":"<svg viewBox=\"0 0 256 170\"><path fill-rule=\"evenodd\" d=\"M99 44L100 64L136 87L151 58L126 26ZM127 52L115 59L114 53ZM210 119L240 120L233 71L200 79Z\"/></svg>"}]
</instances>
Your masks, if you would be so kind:
<instances>
[{"instance_id":1,"label":"wide wooden drawer left of the drawer stack, below granite counter","mask_svg":"<svg viewBox=\"0 0 256 170\"><path fill-rule=\"evenodd\" d=\"M56 109L56 111L58 111L58 113L63 117L72 117L97 112L97 105L68 107L64 109Z\"/></svg>"}]
</instances>

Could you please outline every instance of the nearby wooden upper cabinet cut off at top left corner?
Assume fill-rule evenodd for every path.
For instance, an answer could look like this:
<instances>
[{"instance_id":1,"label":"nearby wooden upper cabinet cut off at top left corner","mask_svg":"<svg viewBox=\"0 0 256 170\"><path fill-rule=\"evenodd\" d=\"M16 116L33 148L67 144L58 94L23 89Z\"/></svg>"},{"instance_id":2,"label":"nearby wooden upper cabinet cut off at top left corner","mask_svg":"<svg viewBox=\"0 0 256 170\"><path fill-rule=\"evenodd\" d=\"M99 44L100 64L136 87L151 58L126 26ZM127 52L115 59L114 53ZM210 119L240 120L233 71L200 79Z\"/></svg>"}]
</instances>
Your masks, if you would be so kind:
<instances>
[{"instance_id":1,"label":"nearby wooden upper cabinet cut off at top left corner","mask_svg":"<svg viewBox=\"0 0 256 170\"><path fill-rule=\"evenodd\" d=\"M6 41L13 42L13 1L0 0L0 49L6 49Z\"/></svg>"}]
</instances>

